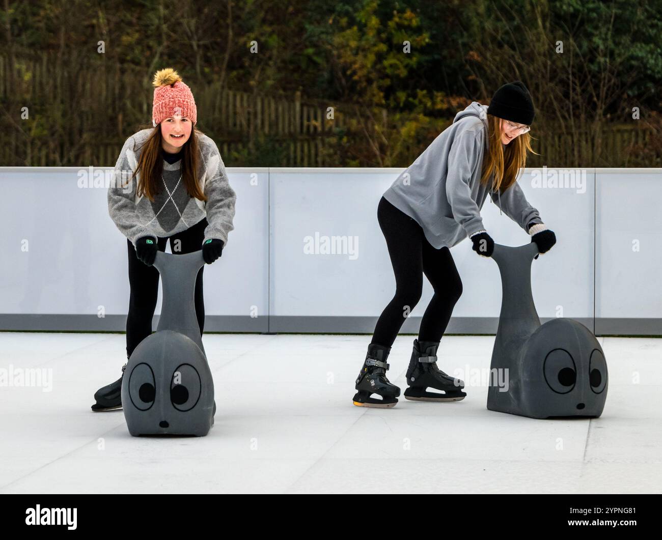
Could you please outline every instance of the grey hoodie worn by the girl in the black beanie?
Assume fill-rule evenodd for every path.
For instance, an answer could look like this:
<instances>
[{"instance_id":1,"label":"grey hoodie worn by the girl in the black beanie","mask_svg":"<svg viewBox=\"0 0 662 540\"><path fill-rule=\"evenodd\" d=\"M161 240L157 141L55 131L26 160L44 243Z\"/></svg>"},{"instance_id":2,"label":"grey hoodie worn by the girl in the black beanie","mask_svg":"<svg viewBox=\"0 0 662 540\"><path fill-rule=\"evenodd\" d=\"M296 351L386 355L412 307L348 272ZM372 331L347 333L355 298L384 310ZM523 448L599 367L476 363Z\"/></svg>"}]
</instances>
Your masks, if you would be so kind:
<instances>
[{"instance_id":1,"label":"grey hoodie worn by the girl in the black beanie","mask_svg":"<svg viewBox=\"0 0 662 540\"><path fill-rule=\"evenodd\" d=\"M487 105L473 101L384 193L421 226L437 249L453 247L484 230L480 210L488 193L526 232L530 222L542 223L517 182L501 194L481 184L487 130Z\"/></svg>"}]
</instances>

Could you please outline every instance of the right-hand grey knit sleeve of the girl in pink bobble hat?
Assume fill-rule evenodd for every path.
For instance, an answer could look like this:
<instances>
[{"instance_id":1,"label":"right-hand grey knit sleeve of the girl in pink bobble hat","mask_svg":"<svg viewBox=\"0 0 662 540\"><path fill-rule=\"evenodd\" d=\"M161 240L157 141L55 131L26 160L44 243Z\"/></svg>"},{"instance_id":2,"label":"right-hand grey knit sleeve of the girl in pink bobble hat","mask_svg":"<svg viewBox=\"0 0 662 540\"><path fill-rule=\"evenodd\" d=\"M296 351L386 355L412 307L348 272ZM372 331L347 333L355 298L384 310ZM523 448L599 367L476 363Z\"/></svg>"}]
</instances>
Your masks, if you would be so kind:
<instances>
[{"instance_id":1,"label":"right-hand grey knit sleeve of the girl in pink bobble hat","mask_svg":"<svg viewBox=\"0 0 662 540\"><path fill-rule=\"evenodd\" d=\"M207 163L207 176L205 177L204 193L207 196L205 202L205 211L207 212L207 221L209 225L205 228L205 240L217 238L223 241L223 245L228 244L228 233L234 229L232 220L234 219L234 204L236 194L230 183L228 175L225 172L225 165L218 152L218 147L213 143L211 156Z\"/></svg>"}]
</instances>

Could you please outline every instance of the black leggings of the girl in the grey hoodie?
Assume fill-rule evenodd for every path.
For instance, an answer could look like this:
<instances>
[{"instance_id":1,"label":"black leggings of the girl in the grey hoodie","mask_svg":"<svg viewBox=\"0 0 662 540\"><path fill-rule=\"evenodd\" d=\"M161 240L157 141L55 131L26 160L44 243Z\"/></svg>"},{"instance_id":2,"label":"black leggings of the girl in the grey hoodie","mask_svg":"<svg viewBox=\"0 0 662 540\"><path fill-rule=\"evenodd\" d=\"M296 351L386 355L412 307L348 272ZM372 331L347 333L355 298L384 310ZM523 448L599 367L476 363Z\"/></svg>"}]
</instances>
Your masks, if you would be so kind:
<instances>
[{"instance_id":1,"label":"black leggings of the girl in the grey hoodie","mask_svg":"<svg viewBox=\"0 0 662 540\"><path fill-rule=\"evenodd\" d=\"M420 322L418 339L441 341L453 307L462 294L462 281L450 250L433 247L420 225L384 197L377 206L377 220L393 264L395 296L377 320L372 343L393 345L404 319L420 300L424 273L434 295Z\"/></svg>"}]
</instances>

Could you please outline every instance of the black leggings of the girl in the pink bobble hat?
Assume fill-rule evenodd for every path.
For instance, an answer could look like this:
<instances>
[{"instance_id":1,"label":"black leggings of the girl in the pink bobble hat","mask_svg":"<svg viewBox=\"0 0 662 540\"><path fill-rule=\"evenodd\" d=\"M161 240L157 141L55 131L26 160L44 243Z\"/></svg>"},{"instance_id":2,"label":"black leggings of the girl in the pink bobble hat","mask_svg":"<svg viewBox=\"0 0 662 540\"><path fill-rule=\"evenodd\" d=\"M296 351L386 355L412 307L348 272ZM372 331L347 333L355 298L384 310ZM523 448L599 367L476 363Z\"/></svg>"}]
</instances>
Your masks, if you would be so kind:
<instances>
[{"instance_id":1,"label":"black leggings of the girl in the pink bobble hat","mask_svg":"<svg viewBox=\"0 0 662 540\"><path fill-rule=\"evenodd\" d=\"M202 249L205 240L205 227L207 218L187 230L157 238L159 251L166 251L166 243L170 239L170 250L175 255L183 255ZM179 244L175 244L177 240ZM128 316L126 317L126 357L130 357L138 343L152 334L152 318L156 310L156 300L159 291L159 271L154 266L148 266L136 255L136 248L126 239L128 244L128 281L131 286L131 295L128 303ZM203 270L204 265L195 279L195 314L200 327L200 335L205 326L205 301L203 299Z\"/></svg>"}]
</instances>

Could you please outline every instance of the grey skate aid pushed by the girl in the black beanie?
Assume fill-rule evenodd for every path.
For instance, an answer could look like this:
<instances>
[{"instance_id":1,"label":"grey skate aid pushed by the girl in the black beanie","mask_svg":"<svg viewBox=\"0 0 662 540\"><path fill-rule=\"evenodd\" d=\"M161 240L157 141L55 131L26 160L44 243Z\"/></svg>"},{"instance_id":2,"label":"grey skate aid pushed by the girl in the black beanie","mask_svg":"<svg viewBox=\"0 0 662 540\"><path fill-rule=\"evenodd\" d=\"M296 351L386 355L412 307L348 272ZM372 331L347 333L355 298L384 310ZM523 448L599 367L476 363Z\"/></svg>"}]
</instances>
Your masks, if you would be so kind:
<instances>
[{"instance_id":1,"label":"grey skate aid pushed by the girl in the black beanie","mask_svg":"<svg viewBox=\"0 0 662 540\"><path fill-rule=\"evenodd\" d=\"M604 352L591 330L575 320L540 324L531 292L537 254L535 242L495 244L502 300L487 408L530 418L600 416L608 382Z\"/></svg>"}]
</instances>

